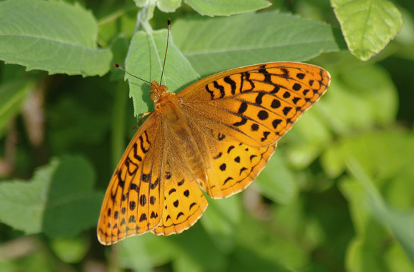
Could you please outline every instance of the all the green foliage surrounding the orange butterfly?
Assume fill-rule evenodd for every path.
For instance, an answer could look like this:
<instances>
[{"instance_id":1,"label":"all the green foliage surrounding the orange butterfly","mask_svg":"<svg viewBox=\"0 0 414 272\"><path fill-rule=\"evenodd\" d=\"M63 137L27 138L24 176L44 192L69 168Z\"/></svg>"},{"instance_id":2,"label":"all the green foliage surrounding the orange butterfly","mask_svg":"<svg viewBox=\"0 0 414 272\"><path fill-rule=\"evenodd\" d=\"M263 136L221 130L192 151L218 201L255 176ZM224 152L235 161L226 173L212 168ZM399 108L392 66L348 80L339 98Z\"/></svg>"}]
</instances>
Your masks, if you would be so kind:
<instances>
[{"instance_id":1,"label":"all the green foliage surrounding the orange butterfly","mask_svg":"<svg viewBox=\"0 0 414 272\"><path fill-rule=\"evenodd\" d=\"M0 271L414 271L413 4L285 2L0 1ZM170 91L270 61L332 83L246 191L103 248L103 190L153 109L110 63L159 81L167 18Z\"/></svg>"}]
</instances>

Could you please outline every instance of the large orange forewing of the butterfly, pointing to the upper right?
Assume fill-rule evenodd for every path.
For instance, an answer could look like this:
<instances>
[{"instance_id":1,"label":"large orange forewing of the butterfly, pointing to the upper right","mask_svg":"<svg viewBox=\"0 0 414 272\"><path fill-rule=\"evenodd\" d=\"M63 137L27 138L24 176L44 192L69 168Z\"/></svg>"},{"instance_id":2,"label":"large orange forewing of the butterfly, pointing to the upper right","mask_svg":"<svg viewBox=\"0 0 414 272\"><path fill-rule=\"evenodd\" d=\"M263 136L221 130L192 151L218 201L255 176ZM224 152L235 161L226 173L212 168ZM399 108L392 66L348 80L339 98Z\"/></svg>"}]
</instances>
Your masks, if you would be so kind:
<instances>
[{"instance_id":1,"label":"large orange forewing of the butterfly, pointing to the upper right","mask_svg":"<svg viewBox=\"0 0 414 272\"><path fill-rule=\"evenodd\" d=\"M324 69L296 62L224 71L194 83L178 97L186 114L249 146L272 146L326 92Z\"/></svg>"}]
</instances>

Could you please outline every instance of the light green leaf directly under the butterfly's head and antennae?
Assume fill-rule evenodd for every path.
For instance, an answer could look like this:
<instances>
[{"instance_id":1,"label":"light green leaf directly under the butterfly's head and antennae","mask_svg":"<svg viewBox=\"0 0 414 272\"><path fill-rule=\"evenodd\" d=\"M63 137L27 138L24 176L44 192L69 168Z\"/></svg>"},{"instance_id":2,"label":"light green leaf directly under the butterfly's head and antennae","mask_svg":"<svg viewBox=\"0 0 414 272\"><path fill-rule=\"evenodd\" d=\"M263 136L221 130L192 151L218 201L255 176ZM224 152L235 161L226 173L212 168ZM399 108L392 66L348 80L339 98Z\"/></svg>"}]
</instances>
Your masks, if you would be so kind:
<instances>
[{"instance_id":1,"label":"light green leaf directly under the butterfly's head and antennae","mask_svg":"<svg viewBox=\"0 0 414 272\"><path fill-rule=\"evenodd\" d=\"M146 81L159 81L166 52L167 31L159 30L151 33L139 31L132 38L125 68L133 75ZM170 36L166 66L163 73L163 85L171 92L176 92L191 81L197 79L197 73L191 64L174 45ZM149 99L149 84L126 74L130 83L130 97L134 100L134 114L140 116L144 112L154 110L154 102Z\"/></svg>"}]
</instances>

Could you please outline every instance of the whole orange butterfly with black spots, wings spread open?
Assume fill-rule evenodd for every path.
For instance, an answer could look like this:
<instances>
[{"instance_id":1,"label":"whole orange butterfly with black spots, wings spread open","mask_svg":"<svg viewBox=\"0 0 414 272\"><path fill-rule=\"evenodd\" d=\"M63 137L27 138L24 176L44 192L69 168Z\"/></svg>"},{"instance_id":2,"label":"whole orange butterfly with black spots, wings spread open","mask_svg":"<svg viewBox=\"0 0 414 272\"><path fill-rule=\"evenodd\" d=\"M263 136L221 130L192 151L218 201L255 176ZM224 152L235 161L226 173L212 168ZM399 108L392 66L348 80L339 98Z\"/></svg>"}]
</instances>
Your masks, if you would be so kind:
<instances>
[{"instance_id":1,"label":"whole orange butterfly with black spots, wings spread open","mask_svg":"<svg viewBox=\"0 0 414 272\"><path fill-rule=\"evenodd\" d=\"M100 211L98 240L171 235L245 189L277 141L326 92L330 75L297 62L256 64L198 81L177 95L151 83L155 111L127 146ZM202 190L201 190L201 189Z\"/></svg>"}]
</instances>

